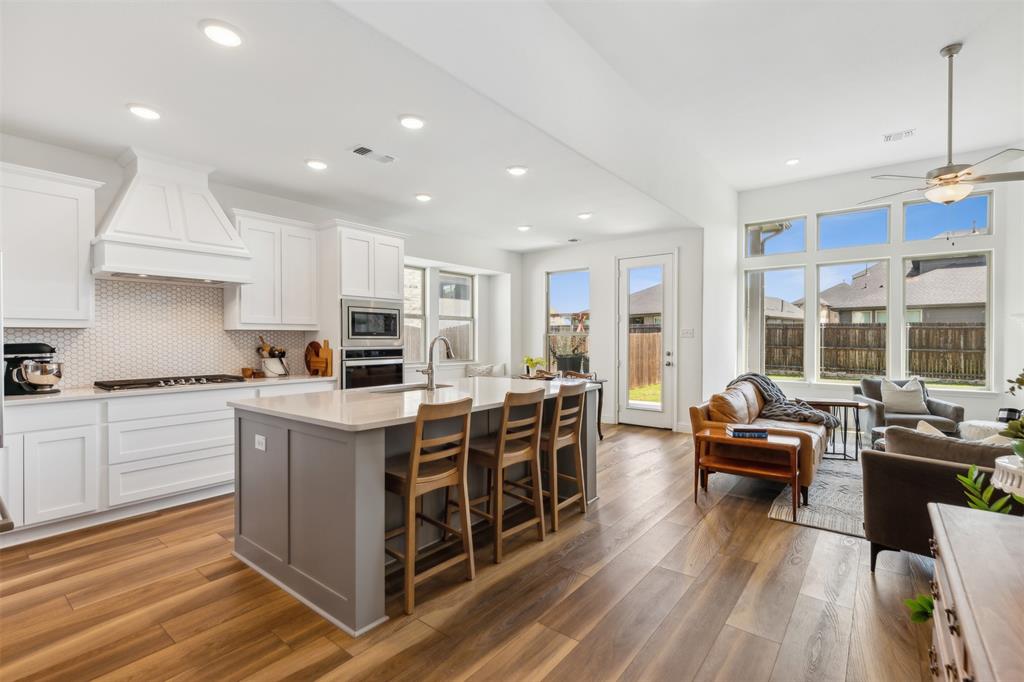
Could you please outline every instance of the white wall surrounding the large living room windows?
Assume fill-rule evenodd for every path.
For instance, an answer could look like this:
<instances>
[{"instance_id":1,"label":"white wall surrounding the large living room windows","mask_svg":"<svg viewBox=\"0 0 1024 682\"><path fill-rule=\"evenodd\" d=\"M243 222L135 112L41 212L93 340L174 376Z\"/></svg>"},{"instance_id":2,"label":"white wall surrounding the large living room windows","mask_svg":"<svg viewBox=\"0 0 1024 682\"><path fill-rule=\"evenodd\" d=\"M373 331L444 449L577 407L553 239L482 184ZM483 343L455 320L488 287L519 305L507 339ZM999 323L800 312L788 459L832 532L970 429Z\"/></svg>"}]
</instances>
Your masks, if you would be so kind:
<instances>
[{"instance_id":1,"label":"white wall surrounding the large living room windows","mask_svg":"<svg viewBox=\"0 0 1024 682\"><path fill-rule=\"evenodd\" d=\"M1022 146L1020 142L1008 144L1008 146ZM970 161L980 161L990 154L1000 151L983 150L976 153L957 153L955 159L958 163ZM817 231L816 214L825 211L836 211L840 209L854 208L858 202L862 202L872 197L899 191L907 188L908 185L899 182L871 180L871 175L882 173L897 173L909 175L923 175L929 168L943 165L942 159L930 159L910 164L900 164L883 168L866 169L854 173L844 173L828 177L794 182L791 184L778 185L742 191L739 194L739 229L742 233L743 225L762 220L772 220L806 215L807 232L809 246L813 247L813 236ZM911 185L912 186L912 185ZM967 410L969 419L994 419L996 411L1000 407L1021 407L1024 399L1021 397L1011 398L1002 393L1006 386L1006 379L1016 377L1024 368L1024 267L1021 265L1021 254L1024 254L1024 183L993 183L981 185L979 189L990 188L993 193L992 216L993 233L989 236L978 236L958 238L952 242L945 240L934 240L927 243L915 242L901 243L902 236L902 202L904 199L919 199L920 196L907 195L905 198L895 198L885 200L872 205L890 204L891 210L891 239L892 243L873 247L860 247L857 249L844 249L825 253L809 252L804 260L809 264L831 260L858 260L861 258L891 257L893 262L898 262L898 258L910 254L940 254L955 253L963 251L991 251L992 256L992 292L991 292L991 321L989 339L991 342L990 351L992 360L990 367L994 376L992 377L992 388L990 391L959 391L941 390L933 391L937 397L953 400L963 404ZM738 240L741 245L742 240ZM739 246L737 245L737 249ZM745 259L741 264L761 266L777 266L783 262L784 256L764 256L757 259ZM808 267L807 288L808 292L813 291L814 273L813 268ZM890 282L890 335L889 335L889 363L891 374L901 374L903 358L900 353L894 351L898 342L902 319L901 299L902 284L898 268L891 268ZM738 287L739 279L736 279ZM741 296L737 293L737 299ZM740 310L742 309L740 300ZM741 317L740 317L741 319ZM813 339L813 322L808 321L807 343ZM737 354L737 360L740 357ZM742 367L740 363L740 367ZM810 382L786 382L783 389L791 396L809 397L848 397L852 394L849 386L836 386L828 384L818 384Z\"/></svg>"}]
</instances>

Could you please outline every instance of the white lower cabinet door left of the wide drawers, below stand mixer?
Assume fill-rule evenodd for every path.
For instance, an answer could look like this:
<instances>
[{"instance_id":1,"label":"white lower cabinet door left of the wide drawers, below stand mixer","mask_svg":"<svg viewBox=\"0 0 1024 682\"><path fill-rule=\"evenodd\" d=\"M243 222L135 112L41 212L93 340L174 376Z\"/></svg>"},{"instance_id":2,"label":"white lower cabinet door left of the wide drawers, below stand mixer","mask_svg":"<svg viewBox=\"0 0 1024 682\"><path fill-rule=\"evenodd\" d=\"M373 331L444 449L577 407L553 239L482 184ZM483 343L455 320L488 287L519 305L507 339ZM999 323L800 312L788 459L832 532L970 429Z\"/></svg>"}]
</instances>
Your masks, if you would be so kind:
<instances>
[{"instance_id":1,"label":"white lower cabinet door left of the wide drawers, below stand mixer","mask_svg":"<svg viewBox=\"0 0 1024 682\"><path fill-rule=\"evenodd\" d=\"M76 426L24 434L26 523L99 508L97 431Z\"/></svg>"}]
</instances>

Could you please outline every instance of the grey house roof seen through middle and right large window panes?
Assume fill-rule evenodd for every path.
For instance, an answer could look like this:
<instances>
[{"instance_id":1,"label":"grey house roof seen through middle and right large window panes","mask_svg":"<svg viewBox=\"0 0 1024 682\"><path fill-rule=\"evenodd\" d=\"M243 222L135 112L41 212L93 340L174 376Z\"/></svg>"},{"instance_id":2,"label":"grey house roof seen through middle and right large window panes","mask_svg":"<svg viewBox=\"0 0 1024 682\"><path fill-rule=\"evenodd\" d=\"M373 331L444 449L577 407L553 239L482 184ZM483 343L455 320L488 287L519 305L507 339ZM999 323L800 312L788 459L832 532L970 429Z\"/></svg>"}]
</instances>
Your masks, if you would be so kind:
<instances>
[{"instance_id":1,"label":"grey house roof seen through middle and right large window panes","mask_svg":"<svg viewBox=\"0 0 1024 682\"><path fill-rule=\"evenodd\" d=\"M906 305L983 305L988 282L984 256L935 258L911 261L906 273ZM836 310L883 308L888 299L885 263L876 263L821 292L822 305Z\"/></svg>"}]
</instances>

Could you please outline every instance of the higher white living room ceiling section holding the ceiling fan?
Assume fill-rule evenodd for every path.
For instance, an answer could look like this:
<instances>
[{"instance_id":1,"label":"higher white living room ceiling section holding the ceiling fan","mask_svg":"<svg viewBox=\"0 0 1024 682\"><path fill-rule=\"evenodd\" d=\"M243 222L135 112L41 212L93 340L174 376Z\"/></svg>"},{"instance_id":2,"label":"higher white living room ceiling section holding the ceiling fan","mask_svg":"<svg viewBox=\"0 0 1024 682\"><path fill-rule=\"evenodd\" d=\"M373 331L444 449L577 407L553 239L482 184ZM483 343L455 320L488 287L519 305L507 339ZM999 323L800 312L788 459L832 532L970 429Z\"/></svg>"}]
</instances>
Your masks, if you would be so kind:
<instances>
[{"instance_id":1,"label":"higher white living room ceiling section holding the ceiling fan","mask_svg":"<svg viewBox=\"0 0 1024 682\"><path fill-rule=\"evenodd\" d=\"M957 40L954 152L1024 137L1022 2L550 4L737 189L943 155Z\"/></svg>"}]
</instances>

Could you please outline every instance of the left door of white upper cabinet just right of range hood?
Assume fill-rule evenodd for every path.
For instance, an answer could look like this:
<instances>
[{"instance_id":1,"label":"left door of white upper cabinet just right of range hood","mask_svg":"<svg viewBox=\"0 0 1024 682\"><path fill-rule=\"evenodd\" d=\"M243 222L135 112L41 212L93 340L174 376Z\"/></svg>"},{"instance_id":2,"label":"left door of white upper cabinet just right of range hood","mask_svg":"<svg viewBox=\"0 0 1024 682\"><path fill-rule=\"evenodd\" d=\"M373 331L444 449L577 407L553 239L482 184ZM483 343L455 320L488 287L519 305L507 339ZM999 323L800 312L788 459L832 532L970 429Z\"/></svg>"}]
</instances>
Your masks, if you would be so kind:
<instances>
[{"instance_id":1,"label":"left door of white upper cabinet just right of range hood","mask_svg":"<svg viewBox=\"0 0 1024 682\"><path fill-rule=\"evenodd\" d=\"M241 322L248 325L281 323L281 228L244 218L242 241L252 254L252 280L243 285Z\"/></svg>"}]
</instances>

